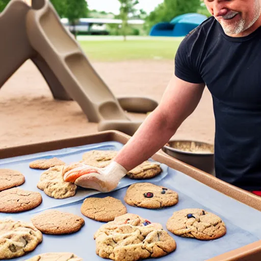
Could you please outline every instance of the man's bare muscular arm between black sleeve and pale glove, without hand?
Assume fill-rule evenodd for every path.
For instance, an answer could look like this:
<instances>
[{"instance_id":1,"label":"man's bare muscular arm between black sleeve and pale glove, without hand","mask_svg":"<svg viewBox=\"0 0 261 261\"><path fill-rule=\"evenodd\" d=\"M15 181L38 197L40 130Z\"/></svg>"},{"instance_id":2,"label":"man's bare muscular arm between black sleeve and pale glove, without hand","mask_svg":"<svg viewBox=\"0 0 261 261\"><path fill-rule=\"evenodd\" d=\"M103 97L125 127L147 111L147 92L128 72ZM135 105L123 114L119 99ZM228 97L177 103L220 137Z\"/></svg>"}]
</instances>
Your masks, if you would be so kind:
<instances>
[{"instance_id":1,"label":"man's bare muscular arm between black sleeve and pale glove, without hand","mask_svg":"<svg viewBox=\"0 0 261 261\"><path fill-rule=\"evenodd\" d=\"M129 171L160 150L196 109L204 87L204 84L188 83L174 75L158 108L146 118L115 161Z\"/></svg>"}]
</instances>

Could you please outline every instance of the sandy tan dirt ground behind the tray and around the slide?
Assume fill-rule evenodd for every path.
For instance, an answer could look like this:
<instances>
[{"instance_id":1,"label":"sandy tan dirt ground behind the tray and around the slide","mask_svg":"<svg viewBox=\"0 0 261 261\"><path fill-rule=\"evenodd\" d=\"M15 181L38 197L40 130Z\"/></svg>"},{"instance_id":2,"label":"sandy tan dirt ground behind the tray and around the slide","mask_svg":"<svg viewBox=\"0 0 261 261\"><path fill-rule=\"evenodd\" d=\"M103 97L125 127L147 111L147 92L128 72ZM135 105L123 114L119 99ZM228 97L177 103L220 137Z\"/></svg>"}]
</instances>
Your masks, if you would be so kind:
<instances>
[{"instance_id":1,"label":"sandy tan dirt ground behind the tray and around the slide","mask_svg":"<svg viewBox=\"0 0 261 261\"><path fill-rule=\"evenodd\" d=\"M160 101L173 73L173 61L93 63L116 96L142 95ZM145 118L146 115L132 115ZM31 61L0 90L0 148L50 141L97 132L74 101L54 100ZM214 142L214 115L208 90L195 112L173 139Z\"/></svg>"}]
</instances>

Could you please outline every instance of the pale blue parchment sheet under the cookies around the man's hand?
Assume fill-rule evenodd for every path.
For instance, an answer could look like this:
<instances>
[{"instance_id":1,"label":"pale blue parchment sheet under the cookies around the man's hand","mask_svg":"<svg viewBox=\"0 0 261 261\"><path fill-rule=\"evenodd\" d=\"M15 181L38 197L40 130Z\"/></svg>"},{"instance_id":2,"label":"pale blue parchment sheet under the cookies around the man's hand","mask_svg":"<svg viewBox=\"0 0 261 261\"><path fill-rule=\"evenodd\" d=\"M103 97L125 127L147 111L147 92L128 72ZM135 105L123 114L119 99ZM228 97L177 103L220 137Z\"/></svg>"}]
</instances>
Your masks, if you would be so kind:
<instances>
[{"instance_id":1,"label":"pale blue parchment sheet under the cookies around the man's hand","mask_svg":"<svg viewBox=\"0 0 261 261\"><path fill-rule=\"evenodd\" d=\"M64 161L66 164L70 164L73 162L79 162L82 160L82 155L89 151L89 150L120 150L122 148L123 144L119 142L102 142L99 144L92 144L92 145L84 145L74 148L64 148L54 151L48 151L43 153L37 153L37 154L31 154L31 155L24 155L24 156L18 156L14 158L9 159L3 159L0 160L0 168L10 168L14 170L20 171L25 176L25 183L22 186L19 186L19 188L24 190L31 190L31 191L37 191L40 192L43 198L43 202L40 206L35 208L34 210L30 212L40 212L43 210L46 210L50 207L55 206L61 206L70 204L73 202L81 201L82 199L86 198L90 195L98 194L99 192L95 190L87 190L83 188L77 188L76 195L70 198L65 199L55 199L48 197L43 191L39 190L36 185L38 181L40 180L40 176L43 173L44 170L37 170L37 169L31 169L29 167L29 163L38 159L49 159L57 157ZM152 161L151 159L149 159ZM160 181L164 176L168 173L168 166L161 164L162 173L156 177L153 178L154 181ZM138 180L138 182L141 182L142 180ZM119 185L117 189L124 188L126 186L129 186L133 183L137 182L137 180L130 179L127 177L124 177L119 182ZM1 215L1 213L0 213ZM1 216L0 216L1 217Z\"/></svg>"}]
</instances>

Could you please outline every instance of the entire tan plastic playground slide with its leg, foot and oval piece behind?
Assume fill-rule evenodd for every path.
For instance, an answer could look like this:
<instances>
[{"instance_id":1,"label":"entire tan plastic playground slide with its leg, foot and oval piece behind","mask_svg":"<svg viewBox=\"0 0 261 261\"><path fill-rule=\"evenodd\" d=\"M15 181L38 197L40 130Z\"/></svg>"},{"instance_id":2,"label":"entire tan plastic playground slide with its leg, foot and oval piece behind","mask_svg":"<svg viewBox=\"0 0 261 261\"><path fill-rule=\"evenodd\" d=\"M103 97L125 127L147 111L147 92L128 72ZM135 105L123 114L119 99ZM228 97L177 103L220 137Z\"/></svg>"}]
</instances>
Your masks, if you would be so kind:
<instances>
[{"instance_id":1,"label":"entire tan plastic playground slide with its leg, foot and oval piece behind","mask_svg":"<svg viewBox=\"0 0 261 261\"><path fill-rule=\"evenodd\" d=\"M133 135L141 122L129 120L124 110L149 112L158 106L149 98L116 99L48 0L32 0L32 6L11 0L0 14L0 34L0 88L31 59L54 98L75 100L90 122L99 123L99 131Z\"/></svg>"}]
</instances>

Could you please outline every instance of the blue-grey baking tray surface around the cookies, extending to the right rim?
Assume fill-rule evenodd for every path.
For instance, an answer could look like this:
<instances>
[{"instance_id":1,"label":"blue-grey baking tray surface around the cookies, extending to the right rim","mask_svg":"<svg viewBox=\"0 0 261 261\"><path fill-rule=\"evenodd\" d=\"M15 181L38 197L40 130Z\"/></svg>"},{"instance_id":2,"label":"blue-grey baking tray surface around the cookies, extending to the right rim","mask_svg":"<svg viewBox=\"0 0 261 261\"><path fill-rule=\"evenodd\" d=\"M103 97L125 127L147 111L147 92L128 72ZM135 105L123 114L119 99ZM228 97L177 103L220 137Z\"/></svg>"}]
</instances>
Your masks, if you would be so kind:
<instances>
[{"instance_id":1,"label":"blue-grey baking tray surface around the cookies, extending to the right rim","mask_svg":"<svg viewBox=\"0 0 261 261\"><path fill-rule=\"evenodd\" d=\"M82 155L83 151L87 149L117 149L119 150L122 147L122 144L116 142L101 143L94 146L82 146L73 149L64 149L55 152L47 152L34 154L29 156L20 156L13 159L6 159L0 161L0 168L8 167L13 169L19 169L23 167L23 170L30 170L28 163L32 159L46 156L59 156L64 161L70 161L76 157L76 160L79 160L79 153ZM56 154L58 153L58 154ZM66 154L66 155L65 155ZM61 155L63 155L61 157ZM68 157L68 158L66 158ZM81 158L81 156L80 156ZM74 160L74 159L73 159ZM67 163L66 162L66 163ZM35 170L33 170L35 171ZM38 181L40 173L24 173L27 177L27 189L35 190L34 186ZM171 232L169 234L175 239L177 243L177 249L165 256L160 260L193 260L193 261L202 261L208 258L217 256L219 254L228 252L233 249L248 245L255 241L261 240L261 226L259 225L261 220L261 212L254 210L253 208L242 204L241 202L234 200L230 197L227 197L218 191L215 191L212 188L207 187L204 184L201 184L199 181L181 173L175 171L171 168L168 168L168 174L165 173L160 176L158 179L151 179L150 182L153 184L158 184L169 189L176 191L179 194L179 202L177 205L163 208L161 210L147 210L145 208L133 207L127 205L123 197L127 190L126 187L119 189L117 191L106 193L106 194L96 194L95 197L106 197L112 196L118 199L121 199L123 204L127 207L128 213L135 213L140 215L143 218L147 218L151 222L159 222L163 225L166 230L166 222L168 218L172 215L174 211L181 210L182 208L204 208L206 211L213 212L219 215L227 226L227 234L218 240L214 241L198 241L195 239L187 239L177 237ZM29 179L29 176L37 175L38 178L32 177ZM161 180L160 178L163 177ZM131 180L133 181L133 180ZM148 180L146 180L147 182ZM134 182L137 182L135 180ZM39 191L39 190L35 190ZM42 191L40 191L42 192ZM43 201L45 199L44 193L41 193L43 196ZM86 195L85 195L86 196ZM46 200L47 201L47 200ZM55 200L57 201L57 200ZM58 204L63 204L63 200L58 200L59 203L52 204L51 206L57 206ZM60 203L61 201L61 203ZM83 201L83 200L82 200ZM43 235L43 242L30 254L26 257L20 257L12 260L24 261L36 254L45 253L45 252L64 252L70 251L76 255L81 256L84 260L105 260L100 258L95 254L95 241L93 240L94 232L103 224L102 222L96 222L91 219L84 217L81 214L80 208L82 201L71 202L63 204L63 206L57 206L56 209L64 212L71 212L76 215L79 215L85 219L84 227L77 233L68 235L68 236L50 236ZM44 204L44 202L43 202ZM40 206L39 206L40 207ZM38 209L39 209L38 207ZM44 207L46 208L46 207ZM43 208L42 208L43 209ZM36 208L37 210L37 208ZM35 215L35 211L30 211L20 214L0 214L1 218L12 217L15 220L24 220L30 221L30 218ZM149 260L158 260L151 258Z\"/></svg>"}]
</instances>

